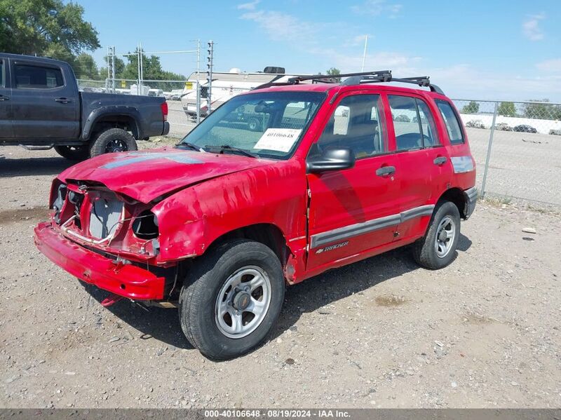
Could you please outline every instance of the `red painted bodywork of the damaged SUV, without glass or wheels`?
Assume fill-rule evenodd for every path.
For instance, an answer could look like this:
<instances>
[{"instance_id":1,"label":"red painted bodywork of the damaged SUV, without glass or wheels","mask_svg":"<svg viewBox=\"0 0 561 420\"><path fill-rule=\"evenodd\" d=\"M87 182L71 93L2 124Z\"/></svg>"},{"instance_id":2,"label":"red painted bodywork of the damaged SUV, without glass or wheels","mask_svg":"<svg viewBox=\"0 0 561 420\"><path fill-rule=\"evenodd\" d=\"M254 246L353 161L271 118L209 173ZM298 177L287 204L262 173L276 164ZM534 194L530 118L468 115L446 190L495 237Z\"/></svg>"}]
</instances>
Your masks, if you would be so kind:
<instances>
[{"instance_id":1,"label":"red painted bodywork of the damaged SUV, without glass or wheels","mask_svg":"<svg viewBox=\"0 0 561 420\"><path fill-rule=\"evenodd\" d=\"M475 170L454 173L452 169L450 157L471 156L471 152L465 131L464 144L450 145L442 117L433 102L435 98L447 100L442 95L394 86L333 86L322 83L268 90L327 92L327 99L295 154L288 160L170 148L105 154L62 172L53 184L50 203L53 203L58 183L86 181L101 187L102 191L95 191L95 187L88 189L88 203L95 194L104 194L103 190L109 189L128 201L126 217L129 219L142 210L150 209L158 219L159 252L132 234L130 222L120 226L115 241L110 245L88 245L149 266L175 266L185 259L204 255L219 238L245 226L272 226L282 234L288 253L284 266L286 280L297 283L327 269L412 243L424 235L430 216L417 217L400 226L352 238L349 245L317 255L308 249L311 235L395 215L420 205L432 205L448 188L465 190L475 185ZM259 90L260 93L264 91ZM389 153L359 160L354 168L348 170L306 175L306 155L311 144L318 140L339 100L356 93L381 95ZM388 94L410 95L424 100L435 118L435 130L442 147L393 153L396 141ZM167 157L164 154L168 154ZM135 162L134 159L139 156L154 158L111 168L119 162ZM447 157L447 163L433 165L433 159L438 156ZM174 160L184 158L197 163ZM395 166L395 175L376 176L375 170L384 165ZM311 189L310 203L308 188ZM82 208L84 220L88 217L85 214L89 212L88 203ZM309 221L306 219L308 205ZM166 297L164 278L140 266L128 264L116 267L111 259L84 248L87 245L84 241L63 235L60 226L54 222L39 224L35 235L41 252L88 283L131 299ZM124 290L121 285L125 285Z\"/></svg>"}]
</instances>

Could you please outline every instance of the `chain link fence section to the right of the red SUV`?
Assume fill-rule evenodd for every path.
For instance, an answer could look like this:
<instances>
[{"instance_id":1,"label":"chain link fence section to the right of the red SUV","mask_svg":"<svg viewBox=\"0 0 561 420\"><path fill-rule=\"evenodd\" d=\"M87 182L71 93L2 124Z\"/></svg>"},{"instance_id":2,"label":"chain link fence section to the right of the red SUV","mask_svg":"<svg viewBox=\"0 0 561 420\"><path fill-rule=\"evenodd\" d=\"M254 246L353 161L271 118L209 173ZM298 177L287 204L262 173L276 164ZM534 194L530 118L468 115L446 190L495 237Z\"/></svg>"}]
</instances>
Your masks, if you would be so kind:
<instances>
[{"instance_id":1,"label":"chain link fence section to the right of the red SUV","mask_svg":"<svg viewBox=\"0 0 561 420\"><path fill-rule=\"evenodd\" d=\"M482 196L561 206L561 104L454 100Z\"/></svg>"}]
</instances>

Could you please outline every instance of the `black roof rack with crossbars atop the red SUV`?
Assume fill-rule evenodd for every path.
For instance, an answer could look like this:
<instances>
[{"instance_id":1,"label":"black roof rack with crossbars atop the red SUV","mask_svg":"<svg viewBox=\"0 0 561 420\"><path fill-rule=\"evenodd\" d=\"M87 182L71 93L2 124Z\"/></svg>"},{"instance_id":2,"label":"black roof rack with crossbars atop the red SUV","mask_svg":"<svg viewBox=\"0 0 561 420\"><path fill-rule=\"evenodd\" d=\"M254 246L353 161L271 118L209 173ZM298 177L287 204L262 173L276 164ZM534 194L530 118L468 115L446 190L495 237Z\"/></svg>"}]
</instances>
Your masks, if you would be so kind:
<instances>
[{"instance_id":1,"label":"black roof rack with crossbars atop the red SUV","mask_svg":"<svg viewBox=\"0 0 561 420\"><path fill-rule=\"evenodd\" d=\"M342 77L346 77L344 81L340 81ZM343 74L313 74L313 75L306 75L306 76L293 76L288 79L286 82L282 83L275 83L269 82L264 83L261 86L257 86L255 89L263 89L269 88L271 86L288 86L288 85L297 85L301 81L311 80L312 83L341 83L342 86L352 86L352 85L360 85L364 83L387 83L391 81L399 82L399 83L412 83L414 85L419 85L424 88L430 88L431 92L440 93L444 95L442 89L438 86L431 84L431 80L428 76L420 76L420 77L403 77L403 78L396 78L393 77L391 74L391 70L381 70L376 72L360 72L360 73L343 73Z\"/></svg>"}]
</instances>

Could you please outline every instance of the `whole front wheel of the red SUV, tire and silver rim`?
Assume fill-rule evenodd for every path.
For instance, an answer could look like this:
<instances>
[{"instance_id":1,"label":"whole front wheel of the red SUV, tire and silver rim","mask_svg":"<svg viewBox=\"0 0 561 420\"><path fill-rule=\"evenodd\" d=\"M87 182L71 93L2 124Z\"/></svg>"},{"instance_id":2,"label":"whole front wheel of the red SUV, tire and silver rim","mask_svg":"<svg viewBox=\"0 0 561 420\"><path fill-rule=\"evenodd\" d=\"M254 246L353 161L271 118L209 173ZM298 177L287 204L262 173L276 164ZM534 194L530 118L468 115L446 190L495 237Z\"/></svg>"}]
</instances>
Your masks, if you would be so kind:
<instances>
[{"instance_id":1,"label":"whole front wheel of the red SUV, tire and silver rim","mask_svg":"<svg viewBox=\"0 0 561 420\"><path fill-rule=\"evenodd\" d=\"M208 358L235 358L271 332L284 292L283 269L270 248L229 241L189 271L180 294L181 328Z\"/></svg>"}]
</instances>

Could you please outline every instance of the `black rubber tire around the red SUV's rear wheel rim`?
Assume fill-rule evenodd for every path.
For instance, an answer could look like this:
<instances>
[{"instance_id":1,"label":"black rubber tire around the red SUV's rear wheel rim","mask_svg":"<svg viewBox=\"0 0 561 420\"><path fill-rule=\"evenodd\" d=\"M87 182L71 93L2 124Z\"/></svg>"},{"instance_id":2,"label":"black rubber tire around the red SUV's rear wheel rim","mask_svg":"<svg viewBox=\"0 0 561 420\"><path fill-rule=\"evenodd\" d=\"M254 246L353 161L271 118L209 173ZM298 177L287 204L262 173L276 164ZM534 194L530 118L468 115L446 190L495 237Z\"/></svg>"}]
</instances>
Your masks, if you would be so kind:
<instances>
[{"instance_id":1,"label":"black rubber tire around the red SUV's rear wheel rim","mask_svg":"<svg viewBox=\"0 0 561 420\"><path fill-rule=\"evenodd\" d=\"M448 223L450 222L450 224ZM442 224L442 229L439 229ZM452 229L446 229L449 226L454 227L453 237L450 236ZM445 230L445 233L442 233ZM437 243L437 235L440 236L439 243L447 244L443 248ZM438 270L450 264L456 257L456 248L458 238L460 236L460 212L457 206L450 201L442 201L438 203L434 209L431 222L425 236L413 244L413 257L417 263L426 269ZM445 253L446 252L446 253ZM445 255L443 255L445 253Z\"/></svg>"}]
</instances>

